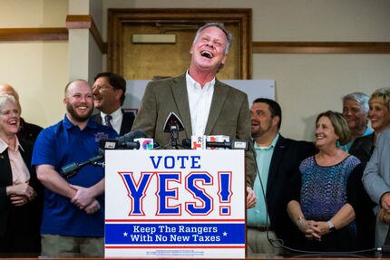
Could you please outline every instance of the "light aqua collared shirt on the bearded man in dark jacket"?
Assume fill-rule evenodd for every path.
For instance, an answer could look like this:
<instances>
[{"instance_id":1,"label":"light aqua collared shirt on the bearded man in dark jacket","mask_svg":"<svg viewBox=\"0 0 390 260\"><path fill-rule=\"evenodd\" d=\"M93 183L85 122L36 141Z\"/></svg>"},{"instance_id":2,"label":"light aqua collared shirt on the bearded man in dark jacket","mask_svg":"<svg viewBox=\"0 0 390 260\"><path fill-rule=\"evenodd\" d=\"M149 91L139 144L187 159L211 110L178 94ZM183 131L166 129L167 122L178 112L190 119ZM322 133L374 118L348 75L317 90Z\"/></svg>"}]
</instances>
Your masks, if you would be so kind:
<instances>
[{"instance_id":1,"label":"light aqua collared shirt on the bearded man in dark jacket","mask_svg":"<svg viewBox=\"0 0 390 260\"><path fill-rule=\"evenodd\" d=\"M258 174L256 175L255 184L253 186L253 189L256 194L256 198L258 202L256 203L255 207L252 207L247 210L247 225L248 226L268 226L269 223L269 216L267 214L267 207L266 207L266 200L263 195L267 192L267 183L268 183L268 172L269 172L269 165L271 164L272 154L274 153L275 146L278 142L279 134L272 140L271 145L268 147L259 147L258 144L254 143L254 149L256 151L256 161L258 164ZM260 179L258 178L258 175L260 175ZM261 188L261 184L262 187ZM268 217L268 221L267 221Z\"/></svg>"}]
</instances>

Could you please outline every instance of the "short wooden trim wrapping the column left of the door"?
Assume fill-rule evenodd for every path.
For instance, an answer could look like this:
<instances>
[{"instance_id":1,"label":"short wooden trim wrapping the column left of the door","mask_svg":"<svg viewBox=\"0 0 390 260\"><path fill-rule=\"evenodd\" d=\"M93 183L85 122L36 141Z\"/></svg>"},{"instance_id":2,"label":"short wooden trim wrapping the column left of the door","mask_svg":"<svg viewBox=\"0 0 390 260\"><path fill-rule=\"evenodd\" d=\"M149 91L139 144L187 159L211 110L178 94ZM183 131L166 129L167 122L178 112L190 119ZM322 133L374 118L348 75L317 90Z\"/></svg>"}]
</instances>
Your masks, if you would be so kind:
<instances>
[{"instance_id":1,"label":"short wooden trim wrapping the column left of the door","mask_svg":"<svg viewBox=\"0 0 390 260\"><path fill-rule=\"evenodd\" d=\"M105 54L107 53L107 43L102 40L96 24L93 21L92 15L67 15L66 16L66 28L68 29L89 29L93 34L93 39L98 45L100 51Z\"/></svg>"}]
</instances>

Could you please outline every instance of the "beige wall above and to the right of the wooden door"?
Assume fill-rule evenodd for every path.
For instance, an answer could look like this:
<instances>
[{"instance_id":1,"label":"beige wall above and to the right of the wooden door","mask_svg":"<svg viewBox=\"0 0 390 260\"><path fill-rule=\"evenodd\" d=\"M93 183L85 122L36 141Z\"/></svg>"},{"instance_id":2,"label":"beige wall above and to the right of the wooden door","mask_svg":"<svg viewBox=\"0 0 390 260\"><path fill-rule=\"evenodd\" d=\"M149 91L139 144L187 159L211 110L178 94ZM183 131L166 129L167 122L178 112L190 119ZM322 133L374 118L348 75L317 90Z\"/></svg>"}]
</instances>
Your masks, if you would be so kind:
<instances>
[{"instance_id":1,"label":"beige wall above and to the right of the wooden door","mask_svg":"<svg viewBox=\"0 0 390 260\"><path fill-rule=\"evenodd\" d=\"M124 2L106 0L103 7L251 8L254 42L390 42L390 1L387 0ZM106 24L106 16L103 19ZM106 34L105 29L103 32ZM313 140L317 114L341 111L343 95L352 91L370 94L377 88L390 87L390 55L254 54L253 79L276 80L277 101L283 111L282 134Z\"/></svg>"}]
</instances>

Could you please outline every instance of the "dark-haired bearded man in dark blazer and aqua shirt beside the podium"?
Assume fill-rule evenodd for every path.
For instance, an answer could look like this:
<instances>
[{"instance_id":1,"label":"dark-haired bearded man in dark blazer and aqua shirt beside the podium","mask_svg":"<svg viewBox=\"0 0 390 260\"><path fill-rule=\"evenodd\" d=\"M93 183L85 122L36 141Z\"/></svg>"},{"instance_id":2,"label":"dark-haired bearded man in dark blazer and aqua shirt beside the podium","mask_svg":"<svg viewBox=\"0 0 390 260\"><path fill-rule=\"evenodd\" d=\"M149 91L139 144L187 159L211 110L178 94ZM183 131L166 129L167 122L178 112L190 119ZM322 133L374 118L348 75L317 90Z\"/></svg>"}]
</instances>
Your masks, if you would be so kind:
<instances>
[{"instance_id":1,"label":"dark-haired bearded man in dark blazer and aqua shirt beside the podium","mask_svg":"<svg viewBox=\"0 0 390 260\"><path fill-rule=\"evenodd\" d=\"M257 99L253 101L250 115L258 165L254 184L258 203L247 212L248 252L249 255L278 254L282 250L272 246L268 236L283 239L286 246L292 245L296 227L287 213L288 185L297 174L300 162L316 149L313 143L286 139L278 133L282 120L278 102Z\"/></svg>"}]
</instances>

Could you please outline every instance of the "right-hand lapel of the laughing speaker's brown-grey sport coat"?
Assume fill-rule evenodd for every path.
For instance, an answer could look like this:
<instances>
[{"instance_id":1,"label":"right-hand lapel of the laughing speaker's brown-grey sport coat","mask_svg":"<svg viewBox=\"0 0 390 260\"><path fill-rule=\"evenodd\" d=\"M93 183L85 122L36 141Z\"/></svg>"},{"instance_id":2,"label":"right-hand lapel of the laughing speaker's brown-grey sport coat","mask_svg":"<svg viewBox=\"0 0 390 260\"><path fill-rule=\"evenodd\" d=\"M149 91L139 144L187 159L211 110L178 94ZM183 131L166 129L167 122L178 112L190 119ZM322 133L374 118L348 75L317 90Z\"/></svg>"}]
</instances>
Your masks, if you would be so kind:
<instances>
[{"instance_id":1,"label":"right-hand lapel of the laughing speaker's brown-grey sport coat","mask_svg":"<svg viewBox=\"0 0 390 260\"><path fill-rule=\"evenodd\" d=\"M219 119L219 113L222 110L222 107L228 98L229 89L225 88L222 82L215 80L214 93L212 94L211 106L209 118L206 124L205 135L210 135L211 130L213 130L215 123Z\"/></svg>"}]
</instances>

